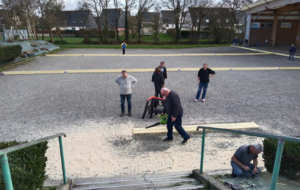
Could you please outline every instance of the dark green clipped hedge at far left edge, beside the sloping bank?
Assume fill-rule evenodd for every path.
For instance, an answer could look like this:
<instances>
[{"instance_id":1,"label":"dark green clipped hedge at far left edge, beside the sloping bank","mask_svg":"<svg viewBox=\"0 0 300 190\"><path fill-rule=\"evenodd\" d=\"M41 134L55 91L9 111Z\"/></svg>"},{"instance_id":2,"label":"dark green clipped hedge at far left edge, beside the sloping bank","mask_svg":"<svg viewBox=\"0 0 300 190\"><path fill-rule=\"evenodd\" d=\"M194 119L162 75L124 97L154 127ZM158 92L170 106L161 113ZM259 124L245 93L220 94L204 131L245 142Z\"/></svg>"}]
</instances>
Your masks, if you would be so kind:
<instances>
[{"instance_id":1,"label":"dark green clipped hedge at far left edge, beside the sloping bank","mask_svg":"<svg viewBox=\"0 0 300 190\"><path fill-rule=\"evenodd\" d=\"M17 58L22 51L20 45L2 46L0 47L0 63L2 61L10 61Z\"/></svg>"}]
</instances>

